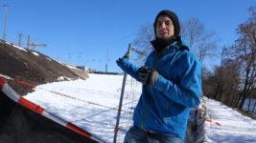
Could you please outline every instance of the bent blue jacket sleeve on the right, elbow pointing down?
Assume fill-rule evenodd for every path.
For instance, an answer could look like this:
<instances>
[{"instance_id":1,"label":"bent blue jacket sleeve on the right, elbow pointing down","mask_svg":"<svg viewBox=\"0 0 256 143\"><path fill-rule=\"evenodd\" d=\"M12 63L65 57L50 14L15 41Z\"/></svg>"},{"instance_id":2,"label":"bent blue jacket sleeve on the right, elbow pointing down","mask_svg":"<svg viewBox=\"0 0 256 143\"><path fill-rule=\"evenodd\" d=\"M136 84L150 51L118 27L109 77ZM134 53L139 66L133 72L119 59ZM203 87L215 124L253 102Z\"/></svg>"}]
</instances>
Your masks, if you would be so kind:
<instances>
[{"instance_id":1,"label":"bent blue jacket sleeve on the right, elbow pointing down","mask_svg":"<svg viewBox=\"0 0 256 143\"><path fill-rule=\"evenodd\" d=\"M187 68L181 73L178 84L159 75L153 88L176 103L191 108L197 107L201 95L201 64L198 59L191 57L186 59L182 66Z\"/></svg>"}]
</instances>

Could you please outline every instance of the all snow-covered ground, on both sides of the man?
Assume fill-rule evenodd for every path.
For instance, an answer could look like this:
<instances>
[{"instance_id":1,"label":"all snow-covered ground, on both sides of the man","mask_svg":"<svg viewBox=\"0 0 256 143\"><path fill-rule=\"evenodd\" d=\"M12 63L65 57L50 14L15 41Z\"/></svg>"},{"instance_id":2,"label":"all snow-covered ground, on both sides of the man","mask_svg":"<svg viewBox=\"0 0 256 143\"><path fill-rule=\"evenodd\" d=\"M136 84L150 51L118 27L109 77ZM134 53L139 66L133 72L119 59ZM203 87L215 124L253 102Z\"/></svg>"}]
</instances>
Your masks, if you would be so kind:
<instances>
[{"instance_id":1,"label":"all snow-covered ground, on both sides of the man","mask_svg":"<svg viewBox=\"0 0 256 143\"><path fill-rule=\"evenodd\" d=\"M113 142L117 108L123 75L89 74L86 80L62 81L36 87L25 98L48 112L53 112L82 129ZM58 93L57 93L58 92ZM118 142L123 142L131 121L131 112L141 92L141 84L128 76ZM60 94L62 93L62 94ZM206 142L256 143L256 121L244 117L211 99L206 101L209 118L206 122ZM221 124L217 126L215 122Z\"/></svg>"}]
</instances>

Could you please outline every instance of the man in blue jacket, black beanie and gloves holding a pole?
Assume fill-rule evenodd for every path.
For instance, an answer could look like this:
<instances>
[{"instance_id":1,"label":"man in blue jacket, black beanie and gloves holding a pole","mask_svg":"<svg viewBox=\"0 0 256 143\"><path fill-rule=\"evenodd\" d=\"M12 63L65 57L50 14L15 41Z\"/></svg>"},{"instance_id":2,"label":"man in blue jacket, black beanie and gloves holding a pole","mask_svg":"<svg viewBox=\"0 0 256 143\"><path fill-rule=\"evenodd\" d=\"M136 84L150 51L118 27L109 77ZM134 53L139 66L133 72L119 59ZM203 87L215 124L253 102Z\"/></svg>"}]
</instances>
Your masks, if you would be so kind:
<instances>
[{"instance_id":1,"label":"man in blue jacket, black beanie and gloves holding a pole","mask_svg":"<svg viewBox=\"0 0 256 143\"><path fill-rule=\"evenodd\" d=\"M125 143L183 142L190 108L199 104L201 64L179 36L175 12L160 11L153 26L154 51L145 66L134 66L127 56L117 60L124 72L143 83Z\"/></svg>"}]
</instances>

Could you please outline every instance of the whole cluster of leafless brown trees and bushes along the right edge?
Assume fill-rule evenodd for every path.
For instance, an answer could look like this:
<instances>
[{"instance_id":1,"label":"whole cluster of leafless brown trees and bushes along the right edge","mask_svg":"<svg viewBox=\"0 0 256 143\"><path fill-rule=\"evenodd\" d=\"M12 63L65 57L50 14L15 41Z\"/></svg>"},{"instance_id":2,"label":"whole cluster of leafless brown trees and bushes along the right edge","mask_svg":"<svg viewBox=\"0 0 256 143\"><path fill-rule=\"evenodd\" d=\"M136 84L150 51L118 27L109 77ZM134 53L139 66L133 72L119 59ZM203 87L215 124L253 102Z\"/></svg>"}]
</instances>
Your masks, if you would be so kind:
<instances>
[{"instance_id":1,"label":"whole cluster of leafless brown trees and bushes along the right edge","mask_svg":"<svg viewBox=\"0 0 256 143\"><path fill-rule=\"evenodd\" d=\"M231 107L253 113L256 102L256 8L248 11L250 17L236 30L238 39L221 52L221 66L204 77L204 92ZM193 43L192 43L193 45ZM244 101L248 99L247 107ZM247 109L244 109L247 108Z\"/></svg>"}]
</instances>

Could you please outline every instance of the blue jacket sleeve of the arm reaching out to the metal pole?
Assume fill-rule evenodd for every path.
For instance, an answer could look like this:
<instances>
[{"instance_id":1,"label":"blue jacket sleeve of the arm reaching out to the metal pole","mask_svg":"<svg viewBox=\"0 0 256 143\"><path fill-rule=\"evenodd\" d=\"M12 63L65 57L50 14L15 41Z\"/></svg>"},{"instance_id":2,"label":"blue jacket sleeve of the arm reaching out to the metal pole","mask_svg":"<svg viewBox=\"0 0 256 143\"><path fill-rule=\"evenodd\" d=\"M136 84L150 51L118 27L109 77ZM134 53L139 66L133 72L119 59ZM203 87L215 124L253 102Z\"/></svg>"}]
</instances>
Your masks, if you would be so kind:
<instances>
[{"instance_id":1,"label":"blue jacket sleeve of the arm reaching out to the metal pole","mask_svg":"<svg viewBox=\"0 0 256 143\"><path fill-rule=\"evenodd\" d=\"M130 76L135 78L137 81L139 81L139 75L137 73L138 67L131 64L127 58L122 59L118 66L124 71L127 72Z\"/></svg>"}]
</instances>

